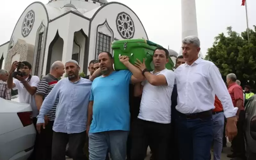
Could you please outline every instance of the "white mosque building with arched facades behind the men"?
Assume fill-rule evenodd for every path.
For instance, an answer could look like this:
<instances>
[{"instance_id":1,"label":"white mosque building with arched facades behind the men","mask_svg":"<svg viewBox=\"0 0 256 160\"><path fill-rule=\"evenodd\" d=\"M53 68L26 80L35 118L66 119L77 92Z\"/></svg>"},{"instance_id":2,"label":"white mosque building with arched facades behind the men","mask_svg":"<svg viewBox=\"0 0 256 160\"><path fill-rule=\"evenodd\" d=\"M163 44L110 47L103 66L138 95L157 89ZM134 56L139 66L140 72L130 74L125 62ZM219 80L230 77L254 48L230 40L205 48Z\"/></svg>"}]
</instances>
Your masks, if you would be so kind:
<instances>
[{"instance_id":1,"label":"white mosque building with arched facades behind the men","mask_svg":"<svg viewBox=\"0 0 256 160\"><path fill-rule=\"evenodd\" d=\"M56 60L78 61L81 72L115 40L144 38L147 33L128 6L107 0L50 0L34 2L21 14L10 41L0 45L0 68L14 60L28 61L32 75L49 73Z\"/></svg>"}]
</instances>

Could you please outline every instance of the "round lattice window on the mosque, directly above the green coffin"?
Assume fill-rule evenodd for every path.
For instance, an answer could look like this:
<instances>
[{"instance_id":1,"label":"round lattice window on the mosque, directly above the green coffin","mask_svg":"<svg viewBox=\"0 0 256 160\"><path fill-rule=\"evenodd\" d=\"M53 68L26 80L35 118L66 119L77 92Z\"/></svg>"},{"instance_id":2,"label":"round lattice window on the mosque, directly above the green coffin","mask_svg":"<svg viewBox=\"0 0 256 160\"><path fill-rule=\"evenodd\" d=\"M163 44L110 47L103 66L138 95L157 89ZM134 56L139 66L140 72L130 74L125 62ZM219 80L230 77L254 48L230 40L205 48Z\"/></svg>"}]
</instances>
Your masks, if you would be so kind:
<instances>
[{"instance_id":1,"label":"round lattice window on the mosque, directly above the green coffin","mask_svg":"<svg viewBox=\"0 0 256 160\"><path fill-rule=\"evenodd\" d=\"M116 17L116 27L120 36L124 39L130 39L134 36L134 23L129 14L121 12Z\"/></svg>"}]
</instances>

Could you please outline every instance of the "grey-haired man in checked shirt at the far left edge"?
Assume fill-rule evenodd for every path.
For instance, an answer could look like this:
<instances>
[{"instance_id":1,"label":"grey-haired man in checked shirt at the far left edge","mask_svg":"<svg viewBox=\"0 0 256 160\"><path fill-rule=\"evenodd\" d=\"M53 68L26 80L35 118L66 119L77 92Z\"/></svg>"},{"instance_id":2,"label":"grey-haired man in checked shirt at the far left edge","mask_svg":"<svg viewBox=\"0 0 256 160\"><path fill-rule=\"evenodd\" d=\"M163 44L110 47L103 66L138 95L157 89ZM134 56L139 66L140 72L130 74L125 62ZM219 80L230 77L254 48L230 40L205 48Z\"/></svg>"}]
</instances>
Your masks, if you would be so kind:
<instances>
[{"instance_id":1,"label":"grey-haired man in checked shirt at the far left edge","mask_svg":"<svg viewBox=\"0 0 256 160\"><path fill-rule=\"evenodd\" d=\"M11 100L11 89L7 86L8 71L0 69L0 97L5 100Z\"/></svg>"}]
</instances>

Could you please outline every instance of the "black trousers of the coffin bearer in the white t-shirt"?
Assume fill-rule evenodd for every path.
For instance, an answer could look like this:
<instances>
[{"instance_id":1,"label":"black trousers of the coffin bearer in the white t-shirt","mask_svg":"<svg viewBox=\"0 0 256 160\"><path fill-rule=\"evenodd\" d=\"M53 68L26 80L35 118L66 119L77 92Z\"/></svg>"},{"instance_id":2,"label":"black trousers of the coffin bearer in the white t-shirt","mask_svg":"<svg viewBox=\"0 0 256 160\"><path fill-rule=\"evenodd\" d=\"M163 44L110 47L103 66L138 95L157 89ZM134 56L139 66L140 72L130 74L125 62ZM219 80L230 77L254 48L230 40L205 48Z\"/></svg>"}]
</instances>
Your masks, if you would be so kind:
<instances>
[{"instance_id":1,"label":"black trousers of the coffin bearer in the white t-shirt","mask_svg":"<svg viewBox=\"0 0 256 160\"><path fill-rule=\"evenodd\" d=\"M136 119L132 124L131 160L144 160L148 146L155 160L167 160L171 124Z\"/></svg>"}]
</instances>

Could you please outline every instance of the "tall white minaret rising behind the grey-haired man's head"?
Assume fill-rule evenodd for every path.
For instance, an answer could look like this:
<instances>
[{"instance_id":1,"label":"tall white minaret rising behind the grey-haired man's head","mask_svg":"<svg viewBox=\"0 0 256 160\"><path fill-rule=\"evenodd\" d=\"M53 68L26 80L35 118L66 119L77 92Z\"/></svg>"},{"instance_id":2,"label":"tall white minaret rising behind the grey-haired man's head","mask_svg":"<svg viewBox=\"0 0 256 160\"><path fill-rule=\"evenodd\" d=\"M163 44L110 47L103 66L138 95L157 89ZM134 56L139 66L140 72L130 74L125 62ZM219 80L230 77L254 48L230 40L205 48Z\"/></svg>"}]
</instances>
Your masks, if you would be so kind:
<instances>
[{"instance_id":1,"label":"tall white minaret rising behind the grey-haired man's head","mask_svg":"<svg viewBox=\"0 0 256 160\"><path fill-rule=\"evenodd\" d=\"M196 20L196 0L181 0L181 38L198 36ZM182 52L180 51L179 55ZM199 52L202 56L202 52ZM203 56L202 56L203 57Z\"/></svg>"}]
</instances>

